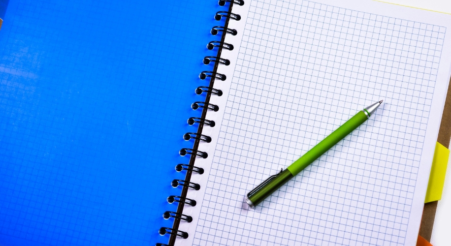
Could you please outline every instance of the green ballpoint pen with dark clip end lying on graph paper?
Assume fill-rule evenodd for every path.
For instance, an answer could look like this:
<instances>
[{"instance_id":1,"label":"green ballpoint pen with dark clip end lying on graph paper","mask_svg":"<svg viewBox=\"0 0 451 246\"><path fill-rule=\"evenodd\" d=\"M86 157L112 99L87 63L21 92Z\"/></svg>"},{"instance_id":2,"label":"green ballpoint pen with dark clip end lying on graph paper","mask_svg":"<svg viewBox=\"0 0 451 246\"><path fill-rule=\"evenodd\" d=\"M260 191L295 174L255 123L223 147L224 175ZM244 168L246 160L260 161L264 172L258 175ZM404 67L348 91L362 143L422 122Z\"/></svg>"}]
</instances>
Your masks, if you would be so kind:
<instances>
[{"instance_id":1,"label":"green ballpoint pen with dark clip end lying on graph paper","mask_svg":"<svg viewBox=\"0 0 451 246\"><path fill-rule=\"evenodd\" d=\"M246 196L246 203L251 207L255 208L260 202L262 202L266 197L268 197L272 192L276 191L280 186L288 182L291 178L296 176L300 171L304 170L313 161L318 159L322 154L328 151L332 146L346 137L355 128L364 123L366 120L373 115L374 112L379 108L383 100L372 104L364 108L362 111L354 115L353 118L349 119L342 126L338 127L329 136L324 138L319 144L313 147L310 151L302 155L293 164L291 164L284 171L276 175L270 176L268 179L263 181L253 190L251 190Z\"/></svg>"}]
</instances>

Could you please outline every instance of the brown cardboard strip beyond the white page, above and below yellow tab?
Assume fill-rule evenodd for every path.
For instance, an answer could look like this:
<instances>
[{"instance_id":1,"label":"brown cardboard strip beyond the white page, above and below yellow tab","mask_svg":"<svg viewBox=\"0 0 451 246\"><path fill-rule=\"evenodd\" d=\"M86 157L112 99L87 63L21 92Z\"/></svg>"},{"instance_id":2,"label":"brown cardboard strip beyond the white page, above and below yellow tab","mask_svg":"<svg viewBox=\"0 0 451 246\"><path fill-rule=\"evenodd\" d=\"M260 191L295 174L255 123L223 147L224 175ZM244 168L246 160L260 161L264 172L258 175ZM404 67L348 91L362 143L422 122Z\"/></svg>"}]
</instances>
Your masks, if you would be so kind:
<instances>
[{"instance_id":1,"label":"brown cardboard strip beyond the white page, above and below yellow tab","mask_svg":"<svg viewBox=\"0 0 451 246\"><path fill-rule=\"evenodd\" d=\"M445 100L445 107L443 108L442 121L440 122L439 136L437 142L450 148L451 138L451 79L448 86L448 92ZM438 201L428 202L424 204L423 215L421 217L421 224L419 226L419 236L431 242L432 228L434 227L435 212L437 211Z\"/></svg>"}]
</instances>

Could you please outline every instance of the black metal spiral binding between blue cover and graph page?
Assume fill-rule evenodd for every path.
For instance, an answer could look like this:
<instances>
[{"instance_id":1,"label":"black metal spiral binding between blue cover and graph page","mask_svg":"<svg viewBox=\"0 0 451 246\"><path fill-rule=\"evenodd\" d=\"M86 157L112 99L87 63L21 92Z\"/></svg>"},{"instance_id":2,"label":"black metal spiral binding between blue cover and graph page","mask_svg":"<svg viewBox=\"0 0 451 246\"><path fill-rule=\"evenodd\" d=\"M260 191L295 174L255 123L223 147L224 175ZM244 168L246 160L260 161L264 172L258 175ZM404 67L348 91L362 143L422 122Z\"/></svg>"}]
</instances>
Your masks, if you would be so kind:
<instances>
[{"instance_id":1,"label":"black metal spiral binding between blue cover and graph page","mask_svg":"<svg viewBox=\"0 0 451 246\"><path fill-rule=\"evenodd\" d=\"M228 28L228 23L231 19L236 20L236 21L239 21L241 19L240 15L234 14L231 12L233 4L237 4L240 6L244 5L244 0L219 0L218 4L220 6L224 6L224 5L226 5L226 2L229 2L228 10L227 11L219 11L215 15L215 19L218 21L221 20L222 18L226 18L226 22L225 22L224 26L215 26L211 30L212 35L217 35L219 32L221 32L221 40L220 41L211 41L207 45L207 48L209 50L214 50L215 47L218 47L218 53L216 56L206 56L203 60L204 64L209 64L211 62L214 62L213 71L203 71L199 74L199 78L201 80L205 80L207 77L209 77L210 84L209 84L209 86L199 86L195 90L196 94L198 94L198 95L202 94L203 92L206 92L204 102L194 102L192 104L192 109L201 109L202 110L201 117L200 118L191 117L187 121L187 123L189 125L198 123L197 132L188 132L185 135L183 135L183 138L187 141L189 141L191 139L194 140L193 148L192 149L183 148L179 152L179 154L182 156L190 154L190 161L189 161L189 164L177 164L175 166L175 170L177 172L186 170L185 180L173 180L171 182L171 185L173 187L177 187L179 185L182 186L182 193L180 196L171 195L167 198L168 203L174 203L174 202L178 203L177 211L176 212L166 211L163 214L163 217L165 219L174 218L174 223L172 225L172 228L161 227L159 230L160 235L170 234L169 242L167 244L157 243L156 246L174 246L175 240L177 237L181 237L184 239L189 237L187 232L180 231L178 229L179 229L181 220L184 220L185 222L193 221L193 218L190 215L182 214L183 208L185 205L190 205L190 206L194 207L197 204L195 200L189 199L186 197L189 188L193 188L194 190L200 189L199 184L195 184L195 183L191 182L191 176L192 176L193 172L198 175L201 175L204 173L203 168L194 166L194 162L196 160L196 157L202 157L202 158L208 157L207 153L198 150L199 143L201 141L206 142L206 143L211 142L211 137L203 135L202 129L205 125L208 125L210 127L215 126L214 121L207 120L207 119L205 119L205 117L207 115L208 110L213 110L213 111L219 110L219 107L217 105L210 103L210 98L212 95L221 96L223 94L223 92L221 90L214 89L213 86L214 86L215 80L216 81L225 81L226 80L226 75L217 72L218 66L220 64L224 64L224 65L230 64L229 60L221 58L223 49L226 49L226 50L233 49L233 45L224 42L224 40L226 38L226 34L227 33L231 34L231 35L237 34L236 30Z\"/></svg>"}]
</instances>

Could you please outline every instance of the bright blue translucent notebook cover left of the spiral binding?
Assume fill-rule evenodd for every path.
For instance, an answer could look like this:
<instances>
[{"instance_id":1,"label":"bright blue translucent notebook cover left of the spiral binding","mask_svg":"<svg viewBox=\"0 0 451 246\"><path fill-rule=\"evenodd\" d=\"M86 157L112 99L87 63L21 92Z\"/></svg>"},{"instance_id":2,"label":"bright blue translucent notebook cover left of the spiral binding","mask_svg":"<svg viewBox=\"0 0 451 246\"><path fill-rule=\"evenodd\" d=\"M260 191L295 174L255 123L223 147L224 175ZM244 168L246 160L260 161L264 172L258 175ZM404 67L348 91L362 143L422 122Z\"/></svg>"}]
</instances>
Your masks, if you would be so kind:
<instances>
[{"instance_id":1,"label":"bright blue translucent notebook cover left of the spiral binding","mask_svg":"<svg viewBox=\"0 0 451 246\"><path fill-rule=\"evenodd\" d=\"M0 245L166 243L216 0L15 0L0 31ZM210 67L211 68L211 67Z\"/></svg>"}]
</instances>

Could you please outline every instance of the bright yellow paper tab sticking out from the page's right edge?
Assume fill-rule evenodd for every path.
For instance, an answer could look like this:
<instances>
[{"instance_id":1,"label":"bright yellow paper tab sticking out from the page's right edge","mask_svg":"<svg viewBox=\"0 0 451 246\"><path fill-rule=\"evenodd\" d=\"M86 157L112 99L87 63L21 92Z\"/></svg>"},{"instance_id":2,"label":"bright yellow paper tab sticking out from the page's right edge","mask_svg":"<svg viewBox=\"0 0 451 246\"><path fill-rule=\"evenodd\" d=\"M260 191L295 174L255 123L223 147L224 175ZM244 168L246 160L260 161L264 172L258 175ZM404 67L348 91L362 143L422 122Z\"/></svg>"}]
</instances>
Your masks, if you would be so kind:
<instances>
[{"instance_id":1,"label":"bright yellow paper tab sticking out from the page's right edge","mask_svg":"<svg viewBox=\"0 0 451 246\"><path fill-rule=\"evenodd\" d=\"M431 175L427 185L426 199L424 203L442 199L443 184L445 183L446 167L450 150L439 142L435 145L434 159L432 160Z\"/></svg>"}]
</instances>

